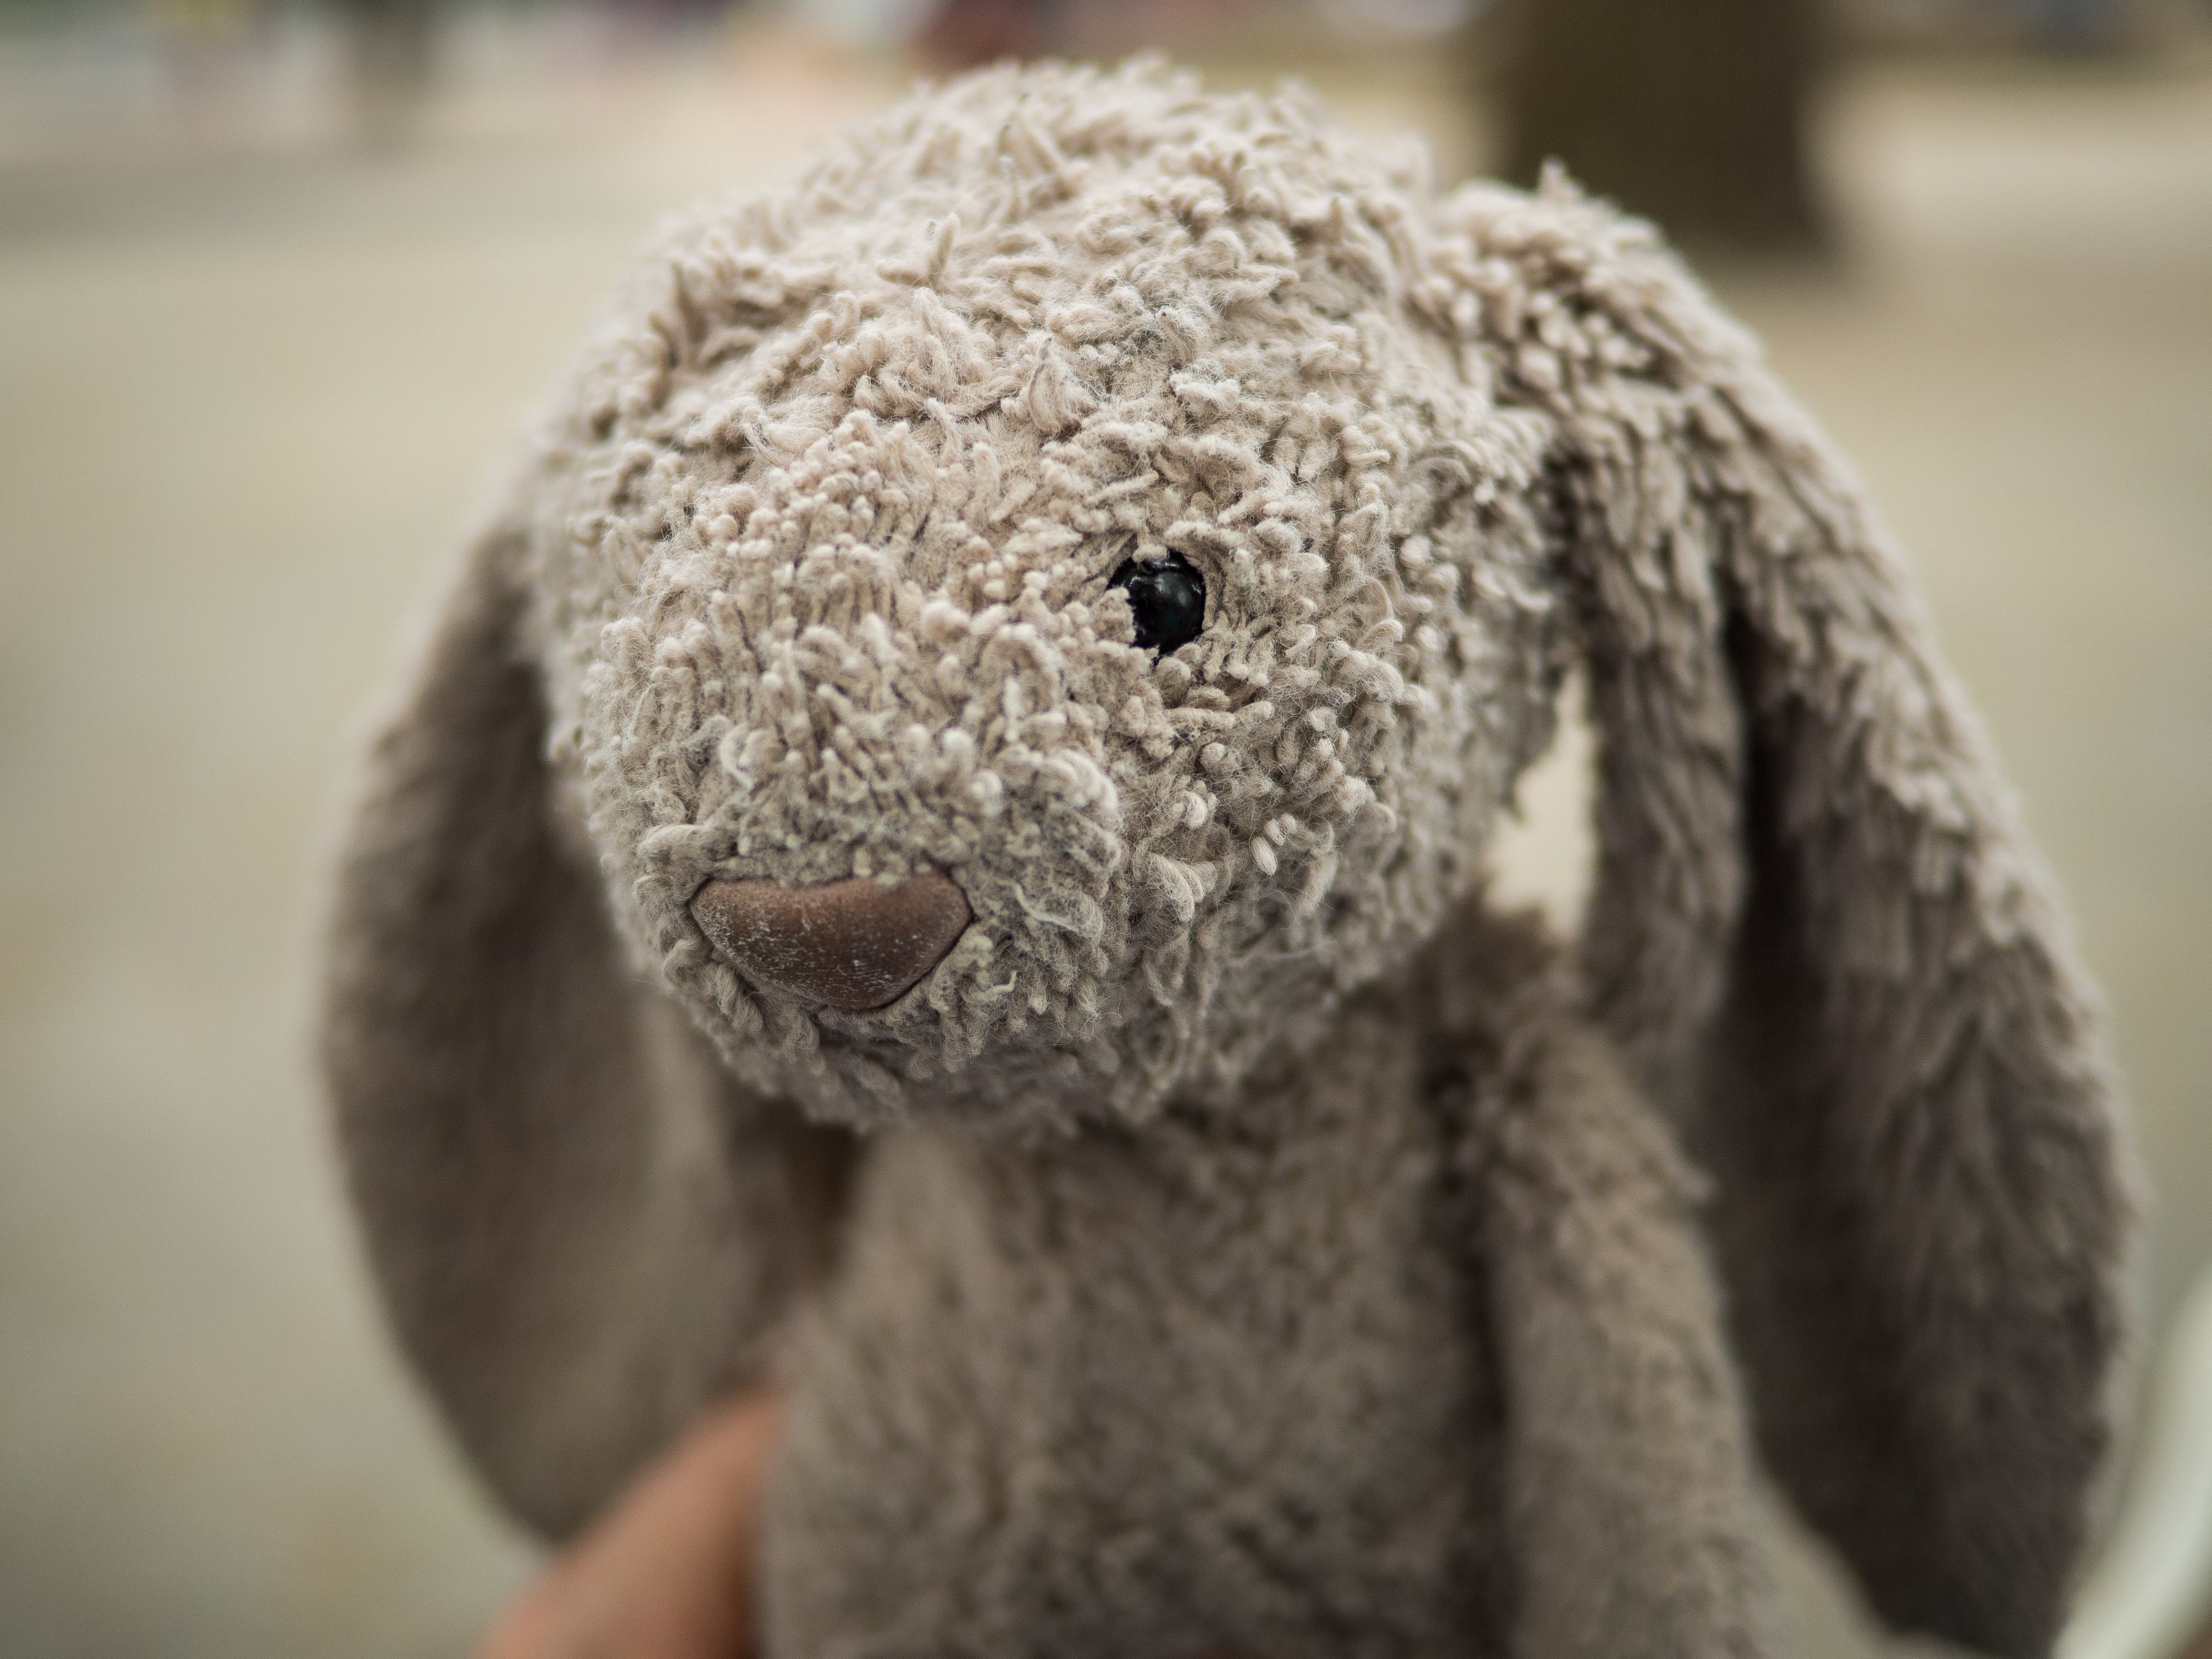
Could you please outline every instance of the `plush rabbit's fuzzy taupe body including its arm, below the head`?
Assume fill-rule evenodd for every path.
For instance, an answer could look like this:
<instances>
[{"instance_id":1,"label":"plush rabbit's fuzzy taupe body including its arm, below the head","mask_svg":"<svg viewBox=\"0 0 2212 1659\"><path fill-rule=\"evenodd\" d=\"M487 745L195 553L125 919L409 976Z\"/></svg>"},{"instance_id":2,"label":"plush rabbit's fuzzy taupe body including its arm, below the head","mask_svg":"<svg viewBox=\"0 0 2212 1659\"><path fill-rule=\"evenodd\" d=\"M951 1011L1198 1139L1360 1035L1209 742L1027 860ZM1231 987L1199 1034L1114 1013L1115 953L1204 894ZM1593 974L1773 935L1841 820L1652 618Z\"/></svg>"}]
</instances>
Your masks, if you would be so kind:
<instances>
[{"instance_id":1,"label":"plush rabbit's fuzzy taupe body including its arm, below the head","mask_svg":"<svg viewBox=\"0 0 2212 1659\"><path fill-rule=\"evenodd\" d=\"M1721 1571L1571 1575L1577 1624L1754 1650L1686 1179L1546 969L1471 909L1307 1053L1141 1133L872 1137L783 1365L772 1648L1506 1652L1515 1595L1568 1613L1509 1573L1509 1509L1573 1528L1597 1500L1577 1553L1670 1509ZM1601 1323L1531 1332L1568 1265ZM1639 1367L1703 1385L1672 1433L1648 1402L1626 1440L1586 1413L1566 1458L1509 1436L1509 1398L1599 1405Z\"/></svg>"}]
</instances>

